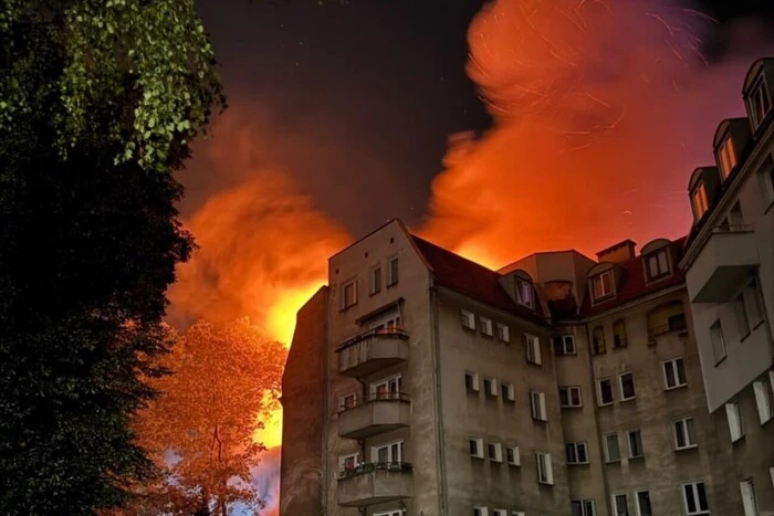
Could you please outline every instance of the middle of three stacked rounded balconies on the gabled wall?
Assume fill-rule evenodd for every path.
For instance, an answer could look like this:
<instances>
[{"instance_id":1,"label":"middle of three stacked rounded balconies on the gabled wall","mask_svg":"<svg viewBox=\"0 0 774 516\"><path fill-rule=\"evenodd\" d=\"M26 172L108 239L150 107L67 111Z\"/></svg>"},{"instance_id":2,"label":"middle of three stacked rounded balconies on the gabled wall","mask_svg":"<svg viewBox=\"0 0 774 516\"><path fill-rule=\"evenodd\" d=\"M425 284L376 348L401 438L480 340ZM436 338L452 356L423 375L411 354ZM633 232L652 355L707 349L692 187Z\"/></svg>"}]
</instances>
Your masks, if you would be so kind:
<instances>
[{"instance_id":1,"label":"middle of three stacked rounded balconies on the gabled wall","mask_svg":"<svg viewBox=\"0 0 774 516\"><path fill-rule=\"evenodd\" d=\"M364 439L408 427L410 399L402 392L380 392L358 399L338 413L338 435Z\"/></svg>"}]
</instances>

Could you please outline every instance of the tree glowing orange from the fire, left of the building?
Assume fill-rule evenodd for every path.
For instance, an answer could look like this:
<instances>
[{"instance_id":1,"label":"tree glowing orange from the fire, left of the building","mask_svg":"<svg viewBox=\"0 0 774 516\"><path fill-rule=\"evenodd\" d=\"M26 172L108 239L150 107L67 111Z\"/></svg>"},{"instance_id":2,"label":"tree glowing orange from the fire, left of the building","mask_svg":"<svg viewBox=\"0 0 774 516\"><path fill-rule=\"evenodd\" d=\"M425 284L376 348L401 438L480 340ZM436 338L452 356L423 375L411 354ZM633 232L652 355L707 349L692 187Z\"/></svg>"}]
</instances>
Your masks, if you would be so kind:
<instances>
[{"instance_id":1,"label":"tree glowing orange from the fire, left of the building","mask_svg":"<svg viewBox=\"0 0 774 516\"><path fill-rule=\"evenodd\" d=\"M137 422L167 480L146 486L132 514L260 507L250 468L265 447L253 435L261 417L278 408L285 358L285 348L247 318L220 328L200 320L188 329L160 364L174 373L151 382L163 396Z\"/></svg>"}]
</instances>

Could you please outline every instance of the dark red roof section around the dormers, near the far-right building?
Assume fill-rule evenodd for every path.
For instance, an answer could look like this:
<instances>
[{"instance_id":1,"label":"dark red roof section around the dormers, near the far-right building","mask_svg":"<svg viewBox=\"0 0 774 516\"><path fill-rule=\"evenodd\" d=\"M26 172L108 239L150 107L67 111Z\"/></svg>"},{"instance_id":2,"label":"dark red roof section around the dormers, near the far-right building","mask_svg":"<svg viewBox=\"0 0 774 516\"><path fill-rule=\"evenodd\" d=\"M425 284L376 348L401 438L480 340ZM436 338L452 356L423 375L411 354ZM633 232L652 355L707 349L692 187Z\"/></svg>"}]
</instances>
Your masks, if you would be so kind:
<instances>
[{"instance_id":1,"label":"dark red roof section around the dormers, near the far-right building","mask_svg":"<svg viewBox=\"0 0 774 516\"><path fill-rule=\"evenodd\" d=\"M621 274L616 289L616 296L592 306L589 291L583 302L583 306L580 307L580 315L596 315L640 297L645 297L649 294L653 294L683 283L686 281L686 273L680 270L677 264L682 255L686 239L687 236L682 236L681 239L674 240L671 243L673 271L671 276L652 283L647 283L645 278L645 267L642 266L642 256L640 255L631 260L627 260L618 265Z\"/></svg>"}]
</instances>

